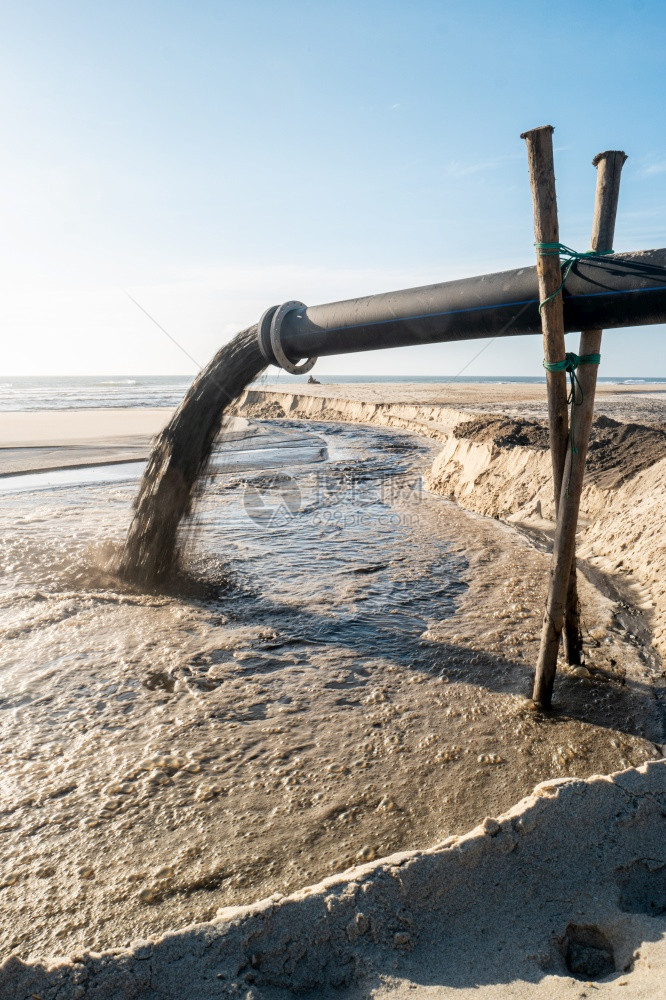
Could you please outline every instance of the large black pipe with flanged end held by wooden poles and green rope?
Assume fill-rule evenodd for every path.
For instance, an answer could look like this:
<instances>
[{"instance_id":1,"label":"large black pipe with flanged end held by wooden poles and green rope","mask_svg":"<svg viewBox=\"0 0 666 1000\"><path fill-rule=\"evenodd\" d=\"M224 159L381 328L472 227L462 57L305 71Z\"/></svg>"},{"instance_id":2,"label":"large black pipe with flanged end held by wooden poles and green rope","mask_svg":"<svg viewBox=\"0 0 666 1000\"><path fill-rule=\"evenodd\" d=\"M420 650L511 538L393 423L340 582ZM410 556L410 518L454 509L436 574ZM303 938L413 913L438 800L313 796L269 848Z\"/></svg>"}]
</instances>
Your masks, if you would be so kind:
<instances>
[{"instance_id":1,"label":"large black pipe with flanged end held by wooden poles and green rope","mask_svg":"<svg viewBox=\"0 0 666 1000\"><path fill-rule=\"evenodd\" d=\"M564 328L666 322L666 249L577 260L563 289ZM260 343L276 364L270 320ZM288 312L277 331L287 358L322 357L483 337L541 333L536 267L501 271Z\"/></svg>"}]
</instances>

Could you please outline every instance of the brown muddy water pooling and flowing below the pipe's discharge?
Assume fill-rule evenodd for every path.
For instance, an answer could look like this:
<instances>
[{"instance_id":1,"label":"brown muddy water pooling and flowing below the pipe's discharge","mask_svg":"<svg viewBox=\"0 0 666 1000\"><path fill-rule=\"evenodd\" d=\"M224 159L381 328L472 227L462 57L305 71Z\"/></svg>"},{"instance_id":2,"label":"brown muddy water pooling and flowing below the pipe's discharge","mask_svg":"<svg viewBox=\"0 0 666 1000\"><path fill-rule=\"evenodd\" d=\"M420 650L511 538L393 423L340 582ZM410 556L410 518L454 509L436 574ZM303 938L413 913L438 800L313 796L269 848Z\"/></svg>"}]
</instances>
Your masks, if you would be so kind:
<instances>
[{"instance_id":1,"label":"brown muddy water pooling and flowing below the pipe's discharge","mask_svg":"<svg viewBox=\"0 0 666 1000\"><path fill-rule=\"evenodd\" d=\"M593 669L528 710L546 557L423 493L433 454L230 443L171 594L104 569L133 470L0 498L0 957L182 927L657 755L649 658L588 586Z\"/></svg>"}]
</instances>

